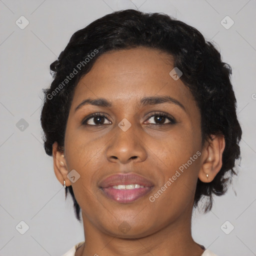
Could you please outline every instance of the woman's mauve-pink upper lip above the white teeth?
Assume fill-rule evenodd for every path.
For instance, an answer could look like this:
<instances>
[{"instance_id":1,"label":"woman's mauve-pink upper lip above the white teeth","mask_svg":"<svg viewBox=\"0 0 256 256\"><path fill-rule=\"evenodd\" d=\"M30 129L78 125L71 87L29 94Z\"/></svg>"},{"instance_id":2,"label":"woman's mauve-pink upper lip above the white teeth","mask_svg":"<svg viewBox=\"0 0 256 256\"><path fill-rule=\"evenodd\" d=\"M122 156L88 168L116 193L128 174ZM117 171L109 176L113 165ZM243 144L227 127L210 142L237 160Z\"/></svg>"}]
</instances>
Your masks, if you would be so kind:
<instances>
[{"instance_id":1,"label":"woman's mauve-pink upper lip above the white teeth","mask_svg":"<svg viewBox=\"0 0 256 256\"><path fill-rule=\"evenodd\" d=\"M135 173L118 173L113 174L104 178L101 182L99 182L99 186L102 188L106 188L114 185L128 185L128 184L138 184L143 186L153 186L153 183Z\"/></svg>"}]
</instances>

